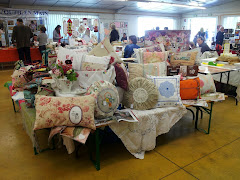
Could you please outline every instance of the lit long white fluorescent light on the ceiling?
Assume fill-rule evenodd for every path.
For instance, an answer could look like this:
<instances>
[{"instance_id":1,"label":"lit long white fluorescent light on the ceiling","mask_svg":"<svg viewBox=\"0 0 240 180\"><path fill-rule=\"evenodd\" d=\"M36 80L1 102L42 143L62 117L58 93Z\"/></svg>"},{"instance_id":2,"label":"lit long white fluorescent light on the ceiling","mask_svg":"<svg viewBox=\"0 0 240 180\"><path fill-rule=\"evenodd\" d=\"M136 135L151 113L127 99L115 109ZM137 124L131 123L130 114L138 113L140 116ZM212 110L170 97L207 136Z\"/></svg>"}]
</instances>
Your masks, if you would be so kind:
<instances>
[{"instance_id":1,"label":"lit long white fluorescent light on the ceiling","mask_svg":"<svg viewBox=\"0 0 240 180\"><path fill-rule=\"evenodd\" d=\"M138 7L143 9L150 9L156 8L158 9L161 5L169 5L169 6L176 6L176 7L184 7L184 8L191 8L191 9L206 9L205 7L197 6L197 5L184 5L184 4L175 4L175 3L167 3L167 2L138 2Z\"/></svg>"}]
</instances>

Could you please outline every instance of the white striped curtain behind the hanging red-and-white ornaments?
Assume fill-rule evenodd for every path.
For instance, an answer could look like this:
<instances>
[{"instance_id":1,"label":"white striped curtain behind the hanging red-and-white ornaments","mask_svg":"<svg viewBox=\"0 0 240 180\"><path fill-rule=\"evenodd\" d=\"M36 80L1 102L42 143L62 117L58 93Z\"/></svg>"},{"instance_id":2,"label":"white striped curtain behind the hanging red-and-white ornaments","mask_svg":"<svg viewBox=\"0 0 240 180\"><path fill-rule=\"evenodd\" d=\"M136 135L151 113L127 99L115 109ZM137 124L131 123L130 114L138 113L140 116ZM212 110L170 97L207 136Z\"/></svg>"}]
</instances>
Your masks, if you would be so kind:
<instances>
[{"instance_id":1,"label":"white striped curtain behind the hanging red-and-white ornaments","mask_svg":"<svg viewBox=\"0 0 240 180\"><path fill-rule=\"evenodd\" d=\"M49 13L48 15L48 26L47 26L47 33L48 38L53 38L53 31L57 25L60 25L63 27L63 19L64 18L78 18L80 21L83 18L92 19L98 19L98 16L92 16L92 15L85 15L85 14L69 14L69 13ZM61 35L63 35L62 32L63 28L61 29Z\"/></svg>"}]
</instances>

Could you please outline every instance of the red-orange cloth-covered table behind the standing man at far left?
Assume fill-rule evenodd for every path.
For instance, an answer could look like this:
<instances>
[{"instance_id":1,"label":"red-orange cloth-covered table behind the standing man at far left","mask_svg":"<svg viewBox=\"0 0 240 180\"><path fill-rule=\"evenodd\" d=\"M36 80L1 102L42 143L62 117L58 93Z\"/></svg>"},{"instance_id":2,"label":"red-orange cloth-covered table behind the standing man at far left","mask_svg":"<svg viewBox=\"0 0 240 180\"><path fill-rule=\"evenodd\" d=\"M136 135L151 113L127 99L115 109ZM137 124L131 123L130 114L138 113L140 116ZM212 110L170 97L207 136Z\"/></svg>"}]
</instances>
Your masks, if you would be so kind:
<instances>
[{"instance_id":1,"label":"red-orange cloth-covered table behind the standing man at far left","mask_svg":"<svg viewBox=\"0 0 240 180\"><path fill-rule=\"evenodd\" d=\"M30 48L31 59L42 60L41 53L38 48ZM18 51L16 48L3 48L0 49L0 63L15 62L19 60Z\"/></svg>"}]
</instances>

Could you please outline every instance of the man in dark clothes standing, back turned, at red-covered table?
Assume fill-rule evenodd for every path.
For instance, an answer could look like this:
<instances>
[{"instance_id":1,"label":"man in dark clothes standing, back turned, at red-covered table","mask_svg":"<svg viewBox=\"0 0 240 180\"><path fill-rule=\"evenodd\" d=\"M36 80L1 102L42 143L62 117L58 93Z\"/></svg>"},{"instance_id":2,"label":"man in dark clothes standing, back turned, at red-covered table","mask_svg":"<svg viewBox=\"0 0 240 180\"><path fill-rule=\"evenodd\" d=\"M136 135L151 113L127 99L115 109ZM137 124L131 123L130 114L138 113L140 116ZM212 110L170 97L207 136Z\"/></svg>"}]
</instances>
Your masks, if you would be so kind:
<instances>
[{"instance_id":1,"label":"man in dark clothes standing, back turned, at red-covered table","mask_svg":"<svg viewBox=\"0 0 240 180\"><path fill-rule=\"evenodd\" d=\"M23 60L25 64L30 64L32 62L30 55L30 39L32 37L33 33L31 29L23 24L22 19L17 19L17 26L13 28L12 42L17 46L19 60Z\"/></svg>"}]
</instances>

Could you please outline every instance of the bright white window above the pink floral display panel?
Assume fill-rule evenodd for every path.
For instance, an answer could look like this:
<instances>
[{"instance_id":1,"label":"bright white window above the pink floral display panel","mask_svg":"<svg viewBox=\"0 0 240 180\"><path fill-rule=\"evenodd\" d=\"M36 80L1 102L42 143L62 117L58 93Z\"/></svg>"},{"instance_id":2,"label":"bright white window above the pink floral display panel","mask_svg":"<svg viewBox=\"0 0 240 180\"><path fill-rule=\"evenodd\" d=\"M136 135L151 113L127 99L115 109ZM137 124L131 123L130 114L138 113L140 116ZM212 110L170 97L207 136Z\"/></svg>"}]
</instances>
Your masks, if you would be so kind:
<instances>
[{"instance_id":1,"label":"bright white window above the pink floral display panel","mask_svg":"<svg viewBox=\"0 0 240 180\"><path fill-rule=\"evenodd\" d=\"M146 30L156 29L158 26L160 30L168 27L173 30L176 27L176 20L172 18L158 18L158 17L138 17L138 37L145 36Z\"/></svg>"}]
</instances>

